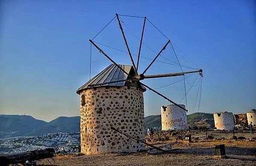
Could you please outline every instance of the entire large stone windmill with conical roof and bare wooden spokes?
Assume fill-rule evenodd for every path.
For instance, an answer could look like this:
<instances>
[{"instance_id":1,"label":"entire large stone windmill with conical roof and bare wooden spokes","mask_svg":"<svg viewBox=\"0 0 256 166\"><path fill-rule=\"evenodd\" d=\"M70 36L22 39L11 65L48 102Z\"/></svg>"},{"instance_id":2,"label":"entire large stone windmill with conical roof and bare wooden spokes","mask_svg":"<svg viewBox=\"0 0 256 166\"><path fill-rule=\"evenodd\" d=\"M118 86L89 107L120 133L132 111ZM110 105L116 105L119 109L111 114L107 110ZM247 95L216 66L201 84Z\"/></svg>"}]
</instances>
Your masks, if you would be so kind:
<instances>
[{"instance_id":1,"label":"entire large stone windmill with conical roof and bare wooden spokes","mask_svg":"<svg viewBox=\"0 0 256 166\"><path fill-rule=\"evenodd\" d=\"M143 92L146 88L162 96L177 107L186 110L166 96L158 93L147 85L141 83L143 79L182 76L186 73L171 73L145 76L145 72L154 63L157 57L166 49L170 40L164 45L153 61L138 74L140 50L142 45L146 17L140 40L137 66L128 47L119 15L116 14L122 36L125 41L131 65L118 65L98 45L89 40L105 57L113 64L105 68L101 73L90 79L80 87L76 93L80 95L80 132L81 152L84 154L100 154L111 152L136 152L144 149L144 101Z\"/></svg>"}]
</instances>

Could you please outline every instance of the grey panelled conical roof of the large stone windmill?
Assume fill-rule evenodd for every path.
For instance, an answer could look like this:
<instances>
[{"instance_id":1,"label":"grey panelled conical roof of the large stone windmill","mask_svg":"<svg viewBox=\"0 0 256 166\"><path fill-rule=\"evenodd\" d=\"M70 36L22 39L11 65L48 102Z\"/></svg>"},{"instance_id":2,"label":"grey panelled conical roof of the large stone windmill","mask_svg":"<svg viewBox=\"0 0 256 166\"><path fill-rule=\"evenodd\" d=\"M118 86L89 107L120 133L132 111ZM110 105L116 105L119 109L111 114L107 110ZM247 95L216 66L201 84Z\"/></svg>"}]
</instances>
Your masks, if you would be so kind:
<instances>
[{"instance_id":1,"label":"grey panelled conical roof of the large stone windmill","mask_svg":"<svg viewBox=\"0 0 256 166\"><path fill-rule=\"evenodd\" d=\"M135 76L135 70L133 66L130 65L119 65L125 72L129 73L130 76ZM128 75L125 74L120 68L118 68L116 65L111 64L102 72L97 74L95 77L90 79L87 83L85 83L83 86L81 86L76 93L80 94L81 90L87 89L87 88L92 88L93 84L102 84L105 82L115 82L115 81L120 81L120 80L125 80L128 79ZM114 87L123 87L125 86L126 81L123 82L115 82L115 83L109 83L109 84L103 84L103 85L96 85L93 87L107 87L107 86L114 86ZM141 85L140 85L141 87ZM145 88L143 88L143 91L145 91Z\"/></svg>"}]
</instances>

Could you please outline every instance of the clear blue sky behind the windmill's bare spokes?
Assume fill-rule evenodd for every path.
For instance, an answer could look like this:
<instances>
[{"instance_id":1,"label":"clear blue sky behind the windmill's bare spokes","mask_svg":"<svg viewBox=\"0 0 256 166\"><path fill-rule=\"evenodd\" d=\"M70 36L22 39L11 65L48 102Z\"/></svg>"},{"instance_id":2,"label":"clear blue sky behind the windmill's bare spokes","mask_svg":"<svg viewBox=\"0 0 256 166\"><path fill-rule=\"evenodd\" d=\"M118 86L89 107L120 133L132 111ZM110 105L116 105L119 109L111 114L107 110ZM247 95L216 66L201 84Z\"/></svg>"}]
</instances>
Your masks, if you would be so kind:
<instances>
[{"instance_id":1,"label":"clear blue sky behind the windmill's bare spokes","mask_svg":"<svg viewBox=\"0 0 256 166\"><path fill-rule=\"evenodd\" d=\"M32 115L50 121L58 116L79 116L76 90L90 79L90 42L115 14L146 16L171 40L182 65L202 68L201 104L195 102L200 79L187 75L188 114L256 108L256 3L253 0L212 1L0 1L0 114ZM138 53L143 19L120 16L131 52ZM135 37L134 37L135 36ZM141 56L153 59L167 42L148 21ZM95 42L117 63L131 65L117 20ZM156 52L156 53L155 53ZM163 58L164 57L164 58ZM137 59L137 56L134 56ZM168 60L166 60L168 59ZM146 74L180 72L167 46ZM92 48L91 77L108 61ZM141 58L139 73L151 61ZM184 71L193 69L183 68ZM183 79L143 80L152 88ZM157 89L185 104L184 83ZM144 93L145 116L160 115L169 104L151 91ZM195 106L196 105L196 106ZM194 109L195 107L195 109Z\"/></svg>"}]
</instances>

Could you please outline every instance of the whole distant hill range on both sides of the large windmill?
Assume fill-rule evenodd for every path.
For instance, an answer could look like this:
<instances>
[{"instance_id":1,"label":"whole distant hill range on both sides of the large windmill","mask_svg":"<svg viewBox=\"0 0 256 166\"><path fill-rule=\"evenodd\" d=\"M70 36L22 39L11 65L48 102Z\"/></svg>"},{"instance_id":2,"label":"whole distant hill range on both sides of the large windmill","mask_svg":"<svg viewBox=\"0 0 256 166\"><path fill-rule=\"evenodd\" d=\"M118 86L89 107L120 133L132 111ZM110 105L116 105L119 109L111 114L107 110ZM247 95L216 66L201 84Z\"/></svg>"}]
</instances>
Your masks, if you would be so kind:
<instances>
[{"instance_id":1,"label":"whole distant hill range on both sides of the large windmill","mask_svg":"<svg viewBox=\"0 0 256 166\"><path fill-rule=\"evenodd\" d=\"M204 120L202 120L204 119ZM157 127L161 129L161 115L151 115L144 118L145 129ZM205 125L210 128L214 125L213 114L193 113L188 115L188 124L191 127ZM28 115L0 115L0 138L15 136L35 136L58 132L79 132L80 117L58 117L49 123Z\"/></svg>"}]
</instances>

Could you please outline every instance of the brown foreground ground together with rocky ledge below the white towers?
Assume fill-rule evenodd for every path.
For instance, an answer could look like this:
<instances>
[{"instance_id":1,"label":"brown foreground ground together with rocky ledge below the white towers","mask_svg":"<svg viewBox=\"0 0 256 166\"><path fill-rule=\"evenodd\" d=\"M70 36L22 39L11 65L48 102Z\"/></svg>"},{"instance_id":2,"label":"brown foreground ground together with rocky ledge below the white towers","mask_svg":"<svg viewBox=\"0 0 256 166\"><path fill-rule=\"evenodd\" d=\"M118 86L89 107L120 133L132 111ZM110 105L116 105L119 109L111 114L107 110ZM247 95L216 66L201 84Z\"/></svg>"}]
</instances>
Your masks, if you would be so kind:
<instances>
[{"instance_id":1,"label":"brown foreground ground together with rocky ledge below the white towers","mask_svg":"<svg viewBox=\"0 0 256 166\"><path fill-rule=\"evenodd\" d=\"M232 132L186 131L191 134L192 142L186 142L178 131L155 132L154 139L148 141L155 146L172 144L167 152L155 154L156 151L135 152L126 154L103 154L81 156L56 156L52 159L38 161L44 166L256 166L256 136L248 131ZM227 158L215 158L216 144L225 144ZM152 153L154 152L154 154Z\"/></svg>"}]
</instances>

